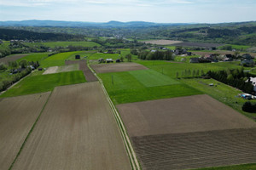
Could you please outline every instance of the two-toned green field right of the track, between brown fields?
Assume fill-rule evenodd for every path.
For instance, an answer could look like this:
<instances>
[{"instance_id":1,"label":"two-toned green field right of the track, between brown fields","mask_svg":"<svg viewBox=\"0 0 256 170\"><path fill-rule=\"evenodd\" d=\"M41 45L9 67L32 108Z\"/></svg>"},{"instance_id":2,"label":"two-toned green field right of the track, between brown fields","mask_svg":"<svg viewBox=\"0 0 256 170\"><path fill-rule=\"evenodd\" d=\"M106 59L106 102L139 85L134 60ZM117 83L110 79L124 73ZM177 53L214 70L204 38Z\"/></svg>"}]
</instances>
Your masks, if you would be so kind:
<instances>
[{"instance_id":1,"label":"two-toned green field right of the track, between brown fields","mask_svg":"<svg viewBox=\"0 0 256 170\"><path fill-rule=\"evenodd\" d=\"M202 94L195 88L156 71L113 72L98 76L102 78L114 104Z\"/></svg>"}]
</instances>

